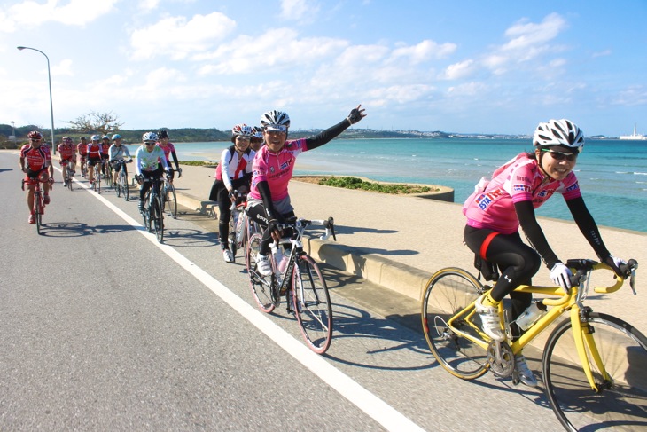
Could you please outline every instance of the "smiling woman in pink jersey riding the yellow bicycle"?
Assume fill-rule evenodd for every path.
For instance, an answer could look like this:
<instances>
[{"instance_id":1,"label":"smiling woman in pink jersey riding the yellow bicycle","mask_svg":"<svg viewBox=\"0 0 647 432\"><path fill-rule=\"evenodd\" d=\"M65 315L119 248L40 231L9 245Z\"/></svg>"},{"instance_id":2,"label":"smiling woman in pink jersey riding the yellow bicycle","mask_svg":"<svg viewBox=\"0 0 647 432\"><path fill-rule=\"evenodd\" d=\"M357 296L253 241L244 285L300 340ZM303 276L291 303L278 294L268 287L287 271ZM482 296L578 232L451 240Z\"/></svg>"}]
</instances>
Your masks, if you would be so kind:
<instances>
[{"instance_id":1,"label":"smiling woman in pink jersey riding the yellow bicycle","mask_svg":"<svg viewBox=\"0 0 647 432\"><path fill-rule=\"evenodd\" d=\"M532 295L513 290L521 284L531 283L530 279L539 271L540 258L557 286L565 290L571 288L571 271L550 248L534 214L534 208L540 207L553 194L564 197L575 223L600 260L619 275L618 266L623 263L604 246L573 173L577 156L584 146L580 128L565 119L539 123L533 144L533 153L520 153L496 169L491 180L481 179L463 207L467 216L465 244L481 258L497 264L501 271L493 289L476 302L483 331L500 342L505 340L505 334L501 329L498 304L505 295L511 295L512 318L526 310ZM531 246L521 240L519 225ZM520 334L514 323L511 332L515 339ZM519 379L528 386L536 386L534 374L521 353L516 362Z\"/></svg>"}]
</instances>

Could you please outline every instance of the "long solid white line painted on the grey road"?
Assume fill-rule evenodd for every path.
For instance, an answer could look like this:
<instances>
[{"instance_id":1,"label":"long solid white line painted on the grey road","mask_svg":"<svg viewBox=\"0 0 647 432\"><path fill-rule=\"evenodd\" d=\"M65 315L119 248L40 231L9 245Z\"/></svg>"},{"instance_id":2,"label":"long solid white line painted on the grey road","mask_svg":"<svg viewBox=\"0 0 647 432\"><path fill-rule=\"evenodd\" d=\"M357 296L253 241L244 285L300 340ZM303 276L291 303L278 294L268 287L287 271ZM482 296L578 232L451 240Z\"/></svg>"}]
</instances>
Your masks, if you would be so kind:
<instances>
[{"instance_id":1,"label":"long solid white line painted on the grey road","mask_svg":"<svg viewBox=\"0 0 647 432\"><path fill-rule=\"evenodd\" d=\"M74 179L76 180L76 179ZM303 343L297 341L292 335L288 334L281 327L263 315L259 310L254 309L243 299L234 294L228 287L222 285L220 281L214 279L211 275L192 263L184 255L177 252L173 247L160 244L155 234L146 232L144 226L136 222L135 219L113 205L97 192L76 180L88 192L95 195L106 207L120 216L127 224L135 227L144 237L159 247L162 252L167 254L175 263L178 263L184 270L189 271L194 278L198 279L205 287L209 288L215 295L219 296L224 302L230 305L231 309L236 310L243 318L256 326L262 333L266 334L272 341L276 342L285 352L294 357L301 365L307 367L312 373L315 373L322 381L335 389L341 396L346 397L349 402L357 406L363 412L366 412L373 420L376 420L387 430L397 431L422 431L425 430L417 426L416 423L409 420L401 412L395 410L391 405L364 389L357 381L350 378L347 374L342 373L335 366L323 359L323 357L309 350Z\"/></svg>"}]
</instances>

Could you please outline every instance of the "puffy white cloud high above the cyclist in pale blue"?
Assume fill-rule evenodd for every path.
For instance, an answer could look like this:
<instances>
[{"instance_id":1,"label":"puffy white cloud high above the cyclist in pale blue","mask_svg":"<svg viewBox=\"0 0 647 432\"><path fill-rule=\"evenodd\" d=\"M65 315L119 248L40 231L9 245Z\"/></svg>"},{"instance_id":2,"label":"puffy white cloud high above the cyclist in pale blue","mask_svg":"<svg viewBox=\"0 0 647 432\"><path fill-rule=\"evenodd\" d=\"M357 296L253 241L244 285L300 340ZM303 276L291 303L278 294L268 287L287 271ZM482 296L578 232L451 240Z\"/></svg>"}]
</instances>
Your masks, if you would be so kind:
<instances>
[{"instance_id":1,"label":"puffy white cloud high above the cyclist in pale blue","mask_svg":"<svg viewBox=\"0 0 647 432\"><path fill-rule=\"evenodd\" d=\"M157 55L168 55L171 59L184 59L191 53L208 50L235 27L236 23L220 12L195 15L191 20L165 18L133 32L130 37L135 49L133 58L152 59Z\"/></svg>"}]
</instances>

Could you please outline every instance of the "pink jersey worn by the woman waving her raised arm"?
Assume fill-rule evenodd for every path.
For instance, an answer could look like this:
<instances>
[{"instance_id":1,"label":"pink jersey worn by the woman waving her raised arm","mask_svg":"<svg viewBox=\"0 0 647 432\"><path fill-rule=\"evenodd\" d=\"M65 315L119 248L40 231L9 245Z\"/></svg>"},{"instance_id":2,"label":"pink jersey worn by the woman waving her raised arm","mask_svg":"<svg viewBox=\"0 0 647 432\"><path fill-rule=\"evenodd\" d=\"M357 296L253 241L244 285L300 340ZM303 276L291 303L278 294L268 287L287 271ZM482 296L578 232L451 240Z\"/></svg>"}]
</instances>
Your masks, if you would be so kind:
<instances>
[{"instance_id":1,"label":"pink jersey worn by the woman waving her raised arm","mask_svg":"<svg viewBox=\"0 0 647 432\"><path fill-rule=\"evenodd\" d=\"M283 200L287 196L287 185L292 178L294 161L301 152L307 151L305 138L285 141L279 153L272 153L267 145L263 145L253 158L249 197L253 200L261 200L258 184L266 181L272 193L272 200Z\"/></svg>"}]
</instances>

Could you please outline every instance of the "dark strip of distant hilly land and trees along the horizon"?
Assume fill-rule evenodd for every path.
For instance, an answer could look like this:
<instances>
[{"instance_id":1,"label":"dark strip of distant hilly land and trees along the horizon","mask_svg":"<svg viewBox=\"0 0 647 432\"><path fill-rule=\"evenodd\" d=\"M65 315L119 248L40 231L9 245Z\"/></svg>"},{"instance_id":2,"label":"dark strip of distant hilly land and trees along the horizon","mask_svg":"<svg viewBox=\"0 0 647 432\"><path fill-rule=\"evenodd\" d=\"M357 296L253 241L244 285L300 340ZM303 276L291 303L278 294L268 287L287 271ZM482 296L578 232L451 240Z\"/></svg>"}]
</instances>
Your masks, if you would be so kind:
<instances>
[{"instance_id":1,"label":"dark strip of distant hilly land and trees along the horizon","mask_svg":"<svg viewBox=\"0 0 647 432\"><path fill-rule=\"evenodd\" d=\"M8 124L0 124L0 148L13 148L16 145L22 145L27 142L27 133L30 130L41 130L45 139L50 137L51 131L47 128L39 128L34 125L27 125L15 128L16 144L10 139L12 127ZM173 143L201 143L215 141L229 141L229 130L218 130L215 128L152 128L147 130L119 130L119 134L124 142L129 144L138 143L142 139L144 132L150 130L167 130ZM312 137L321 132L321 129L290 130L291 138ZM57 141L61 137L69 136L78 142L78 138L85 136L90 138L90 133L80 133L78 130L69 128L57 128L55 130ZM397 139L397 138L451 138L451 139L531 139L530 135L505 135L505 134L466 134L451 133L440 130L420 131L420 130L373 130L352 128L344 131L339 139ZM588 139L616 139L617 137L604 137L597 135L588 137Z\"/></svg>"}]
</instances>

